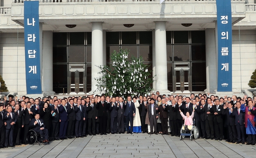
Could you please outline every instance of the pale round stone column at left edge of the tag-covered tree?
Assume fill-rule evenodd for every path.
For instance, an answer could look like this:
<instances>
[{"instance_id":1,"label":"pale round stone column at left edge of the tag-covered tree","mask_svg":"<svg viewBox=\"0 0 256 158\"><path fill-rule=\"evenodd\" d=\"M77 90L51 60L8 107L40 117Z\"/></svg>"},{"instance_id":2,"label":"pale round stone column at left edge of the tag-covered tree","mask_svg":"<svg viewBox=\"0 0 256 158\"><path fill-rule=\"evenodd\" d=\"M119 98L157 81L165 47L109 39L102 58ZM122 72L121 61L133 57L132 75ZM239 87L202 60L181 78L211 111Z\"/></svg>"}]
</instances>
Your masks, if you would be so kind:
<instances>
[{"instance_id":1,"label":"pale round stone column at left edge of the tag-covered tree","mask_svg":"<svg viewBox=\"0 0 256 158\"><path fill-rule=\"evenodd\" d=\"M95 78L102 76L98 74L100 69L97 66L103 65L103 31L102 22L92 22L92 90L89 94L100 94L96 92L97 81Z\"/></svg>"}]
</instances>

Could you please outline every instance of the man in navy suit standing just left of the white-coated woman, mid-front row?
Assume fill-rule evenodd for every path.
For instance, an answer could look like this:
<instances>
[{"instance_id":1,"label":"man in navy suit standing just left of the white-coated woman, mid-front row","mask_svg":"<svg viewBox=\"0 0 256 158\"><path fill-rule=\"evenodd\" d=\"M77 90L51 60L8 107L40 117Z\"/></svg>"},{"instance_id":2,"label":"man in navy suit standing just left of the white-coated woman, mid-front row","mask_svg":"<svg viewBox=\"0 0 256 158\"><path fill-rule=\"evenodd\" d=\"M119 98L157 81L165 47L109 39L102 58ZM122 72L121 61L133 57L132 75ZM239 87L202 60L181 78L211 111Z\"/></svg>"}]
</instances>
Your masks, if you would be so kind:
<instances>
[{"instance_id":1,"label":"man in navy suit standing just left of the white-coated woman, mid-front row","mask_svg":"<svg viewBox=\"0 0 256 158\"><path fill-rule=\"evenodd\" d=\"M127 127L127 134L131 133L132 134L132 129L133 129L133 117L135 116L136 109L134 103L131 101L132 97L128 96L127 97L127 102L125 104L125 111L124 111L124 116L126 119L126 127ZM129 129L129 121L130 121L130 129Z\"/></svg>"}]
</instances>

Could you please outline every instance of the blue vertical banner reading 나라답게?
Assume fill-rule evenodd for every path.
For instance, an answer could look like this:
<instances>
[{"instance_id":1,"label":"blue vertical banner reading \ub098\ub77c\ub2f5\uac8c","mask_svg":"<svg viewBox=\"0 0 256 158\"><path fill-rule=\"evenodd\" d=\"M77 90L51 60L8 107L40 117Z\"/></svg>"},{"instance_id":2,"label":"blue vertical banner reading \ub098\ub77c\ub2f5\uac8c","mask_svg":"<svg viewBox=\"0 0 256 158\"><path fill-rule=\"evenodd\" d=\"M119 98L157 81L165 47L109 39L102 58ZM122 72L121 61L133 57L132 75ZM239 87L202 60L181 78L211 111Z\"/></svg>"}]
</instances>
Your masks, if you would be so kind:
<instances>
[{"instance_id":1,"label":"blue vertical banner reading \ub098\ub77c\ub2f5\uac8c","mask_svg":"<svg viewBox=\"0 0 256 158\"><path fill-rule=\"evenodd\" d=\"M42 94L40 77L39 1L24 1L27 94Z\"/></svg>"}]
</instances>

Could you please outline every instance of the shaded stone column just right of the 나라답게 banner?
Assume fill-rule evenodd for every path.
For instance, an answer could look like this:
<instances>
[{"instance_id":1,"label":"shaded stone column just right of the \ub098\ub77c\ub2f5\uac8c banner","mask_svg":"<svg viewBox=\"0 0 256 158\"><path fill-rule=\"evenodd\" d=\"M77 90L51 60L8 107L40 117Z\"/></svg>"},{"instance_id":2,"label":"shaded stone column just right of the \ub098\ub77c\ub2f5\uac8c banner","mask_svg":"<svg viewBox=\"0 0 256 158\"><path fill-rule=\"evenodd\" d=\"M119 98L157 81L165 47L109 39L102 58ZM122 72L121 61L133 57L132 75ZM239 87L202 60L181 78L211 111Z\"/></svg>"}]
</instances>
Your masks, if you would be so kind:
<instances>
[{"instance_id":1,"label":"shaded stone column just right of the \ub098\ub77c\ub2f5\uac8c banner","mask_svg":"<svg viewBox=\"0 0 256 158\"><path fill-rule=\"evenodd\" d=\"M53 91L52 38L52 31L43 31L41 78L44 96L55 94Z\"/></svg>"}]
</instances>

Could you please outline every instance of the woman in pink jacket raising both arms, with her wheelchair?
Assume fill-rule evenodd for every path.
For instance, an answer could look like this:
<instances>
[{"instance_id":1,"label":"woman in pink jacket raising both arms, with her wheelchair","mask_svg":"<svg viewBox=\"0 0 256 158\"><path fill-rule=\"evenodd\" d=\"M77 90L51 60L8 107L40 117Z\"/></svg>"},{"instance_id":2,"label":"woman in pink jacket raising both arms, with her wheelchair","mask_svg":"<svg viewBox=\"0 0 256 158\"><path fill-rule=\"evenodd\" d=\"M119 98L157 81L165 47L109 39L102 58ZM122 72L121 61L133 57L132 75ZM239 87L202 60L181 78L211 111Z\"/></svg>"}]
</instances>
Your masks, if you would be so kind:
<instances>
[{"instance_id":1,"label":"woman in pink jacket raising both arms, with her wheelchair","mask_svg":"<svg viewBox=\"0 0 256 158\"><path fill-rule=\"evenodd\" d=\"M190 112L187 111L185 116L180 110L180 115L184 119L184 124L180 129L180 140L184 139L185 136L189 136L191 141L193 139L193 136L194 139L198 138L198 128L193 124L194 111L195 110L193 110L192 115L190 115Z\"/></svg>"}]
</instances>

